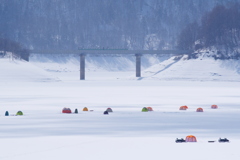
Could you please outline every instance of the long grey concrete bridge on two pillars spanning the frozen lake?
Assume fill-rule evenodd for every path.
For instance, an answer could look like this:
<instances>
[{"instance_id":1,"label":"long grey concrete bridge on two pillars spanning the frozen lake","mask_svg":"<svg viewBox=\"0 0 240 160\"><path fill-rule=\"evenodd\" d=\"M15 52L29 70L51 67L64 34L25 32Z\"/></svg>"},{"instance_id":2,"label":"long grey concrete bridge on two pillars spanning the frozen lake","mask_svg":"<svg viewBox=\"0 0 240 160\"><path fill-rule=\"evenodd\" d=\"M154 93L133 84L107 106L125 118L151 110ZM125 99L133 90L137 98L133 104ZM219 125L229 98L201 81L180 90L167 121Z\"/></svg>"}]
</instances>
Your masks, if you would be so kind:
<instances>
[{"instance_id":1,"label":"long grey concrete bridge on two pillars spanning the frozen lake","mask_svg":"<svg viewBox=\"0 0 240 160\"><path fill-rule=\"evenodd\" d=\"M152 55L182 55L193 53L191 50L127 50L127 49L79 49L76 51L30 51L30 54L78 54L80 56L80 80L85 80L85 57L86 55L135 55L136 77L141 77L141 56Z\"/></svg>"}]
</instances>

